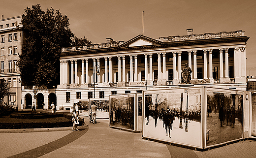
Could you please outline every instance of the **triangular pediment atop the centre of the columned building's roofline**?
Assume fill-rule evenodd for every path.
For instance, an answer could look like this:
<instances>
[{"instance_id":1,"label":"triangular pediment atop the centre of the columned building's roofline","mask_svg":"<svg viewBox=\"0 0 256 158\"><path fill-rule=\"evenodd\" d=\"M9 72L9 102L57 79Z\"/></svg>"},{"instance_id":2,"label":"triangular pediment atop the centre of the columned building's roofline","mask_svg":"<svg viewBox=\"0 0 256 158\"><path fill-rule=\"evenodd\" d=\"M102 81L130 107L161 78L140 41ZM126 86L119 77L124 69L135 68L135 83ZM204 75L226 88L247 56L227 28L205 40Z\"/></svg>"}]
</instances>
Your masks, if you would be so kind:
<instances>
[{"instance_id":1,"label":"triangular pediment atop the centre of the columned building's roofline","mask_svg":"<svg viewBox=\"0 0 256 158\"><path fill-rule=\"evenodd\" d=\"M140 34L128 40L124 44L120 45L120 47L140 47L140 46L159 45L159 44L163 44L163 43L159 40L149 38L147 36Z\"/></svg>"}]
</instances>

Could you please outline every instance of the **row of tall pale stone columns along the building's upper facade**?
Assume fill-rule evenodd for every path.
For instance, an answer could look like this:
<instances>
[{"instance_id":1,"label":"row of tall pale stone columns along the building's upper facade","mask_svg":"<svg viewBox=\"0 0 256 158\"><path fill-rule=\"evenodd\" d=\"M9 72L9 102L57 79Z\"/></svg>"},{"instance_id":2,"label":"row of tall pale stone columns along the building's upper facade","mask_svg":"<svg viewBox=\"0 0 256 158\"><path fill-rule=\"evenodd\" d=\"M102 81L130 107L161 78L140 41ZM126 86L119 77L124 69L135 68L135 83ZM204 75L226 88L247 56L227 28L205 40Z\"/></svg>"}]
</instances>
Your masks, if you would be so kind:
<instances>
[{"instance_id":1,"label":"row of tall pale stone columns along the building's upper facade","mask_svg":"<svg viewBox=\"0 0 256 158\"><path fill-rule=\"evenodd\" d=\"M228 78L228 49L229 48L222 48L219 49L220 51L220 78ZM213 58L212 58L212 51L213 49L208 49L208 50L203 50L203 67L204 67L204 79L208 78L208 73L207 73L207 53L209 52L209 78L213 78ZM223 51L225 52L225 74L224 74L224 61L223 61ZM196 58L196 53L197 50L194 51L188 51L189 55L189 67L192 68L192 52L193 52L193 72L192 72L192 79L197 79L197 58ZM182 72L182 67L181 67L181 53L182 52L172 52L173 54L173 78L174 80L181 79L181 72ZM167 80L166 79L166 63L165 63L165 52L162 53L157 53L158 55L158 79L162 80ZM176 54L178 54L178 71L177 71L177 63L176 63ZM153 81L153 62L152 62L152 53L149 54L144 54L145 57L145 79L147 81ZM162 78L161 78L161 55L162 55ZM149 67L148 67L148 56L149 56ZM121 57L123 59L123 67L122 67L122 72L123 74L121 75ZM133 57L134 57L134 76L133 76ZM126 56L117 56L118 58L118 81L121 82L121 76L122 76L122 81L126 82ZM105 59L105 81L108 82L108 69L109 69L109 82L112 82L112 57L104 57ZM137 55L129 55L130 59L130 81L138 81L138 63L137 63ZM235 68L235 77L245 77L245 47L242 48L235 48L234 49L234 59L237 67ZM243 60L244 59L244 60ZM97 63L96 63L97 60ZM89 67L88 67L88 59L82 59L82 84L85 83L85 67L86 67L86 74L89 74ZM84 61L86 62L86 65L84 65ZM109 61L109 67L108 67L108 61ZM75 75L77 76L77 61L72 60L71 62L71 76ZM96 73L95 71L98 70L100 71L100 61L99 58L93 58L94 62L94 74ZM66 64L66 61L62 61L61 64ZM75 63L75 66L73 65ZM238 63L238 64L237 64ZM73 67L75 67L75 70L73 70ZM149 68L149 74L148 74L148 68ZM61 68L62 69L62 68ZM66 66L66 71L67 71L67 66ZM75 74L73 74L75 72ZM63 73L62 73L63 74ZM94 76L94 82L96 82L96 76ZM100 81L100 76L97 76L98 79L97 81ZM134 77L134 80L133 80ZM67 77L66 77L67 78ZM77 84L77 77L74 78L71 77L71 84L75 83ZM86 75L86 83L88 84L89 81L89 75ZM67 83L67 80L64 80L64 78L61 78L61 83Z\"/></svg>"}]
</instances>

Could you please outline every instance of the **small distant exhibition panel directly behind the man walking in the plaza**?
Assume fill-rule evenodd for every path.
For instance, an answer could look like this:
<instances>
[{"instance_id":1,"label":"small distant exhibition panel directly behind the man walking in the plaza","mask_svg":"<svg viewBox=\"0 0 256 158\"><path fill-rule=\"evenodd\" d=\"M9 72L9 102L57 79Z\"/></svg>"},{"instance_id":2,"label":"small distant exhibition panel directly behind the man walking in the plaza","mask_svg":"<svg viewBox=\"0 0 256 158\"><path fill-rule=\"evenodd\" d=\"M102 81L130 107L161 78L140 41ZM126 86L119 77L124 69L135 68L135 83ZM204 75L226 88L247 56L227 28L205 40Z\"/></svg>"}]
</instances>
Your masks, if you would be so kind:
<instances>
[{"instance_id":1,"label":"small distant exhibition panel directly behind the man walking in the plaza","mask_svg":"<svg viewBox=\"0 0 256 158\"><path fill-rule=\"evenodd\" d=\"M92 111L92 105L97 106L96 118L109 119L109 100L108 99L95 99L90 98L89 114Z\"/></svg>"}]
</instances>

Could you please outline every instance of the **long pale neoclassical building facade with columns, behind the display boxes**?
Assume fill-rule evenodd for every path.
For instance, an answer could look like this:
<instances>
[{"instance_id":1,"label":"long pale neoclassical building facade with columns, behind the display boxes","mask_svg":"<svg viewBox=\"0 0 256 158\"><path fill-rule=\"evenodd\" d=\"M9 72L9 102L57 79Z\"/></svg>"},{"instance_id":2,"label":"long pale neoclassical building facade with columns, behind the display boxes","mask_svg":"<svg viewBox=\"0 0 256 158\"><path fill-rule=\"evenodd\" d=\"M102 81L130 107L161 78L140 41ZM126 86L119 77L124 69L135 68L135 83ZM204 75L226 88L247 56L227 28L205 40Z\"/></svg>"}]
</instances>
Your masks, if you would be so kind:
<instances>
[{"instance_id":1,"label":"long pale neoclassical building facade with columns, behind the display boxes","mask_svg":"<svg viewBox=\"0 0 256 158\"><path fill-rule=\"evenodd\" d=\"M138 35L127 42L62 48L60 85L54 90L57 109L74 99L109 98L182 86L185 63L192 69L192 86L246 90L244 31L168 36ZM25 94L24 94L25 95Z\"/></svg>"}]
</instances>

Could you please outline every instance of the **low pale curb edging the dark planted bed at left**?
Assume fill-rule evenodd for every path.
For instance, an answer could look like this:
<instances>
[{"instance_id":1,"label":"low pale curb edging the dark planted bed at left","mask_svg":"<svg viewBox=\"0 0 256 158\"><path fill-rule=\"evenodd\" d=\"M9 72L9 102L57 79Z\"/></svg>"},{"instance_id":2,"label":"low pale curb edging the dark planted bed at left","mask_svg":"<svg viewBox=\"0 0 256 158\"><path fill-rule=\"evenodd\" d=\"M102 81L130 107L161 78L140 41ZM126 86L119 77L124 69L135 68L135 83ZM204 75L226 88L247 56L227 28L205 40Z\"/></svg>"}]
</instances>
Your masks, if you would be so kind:
<instances>
[{"instance_id":1,"label":"low pale curb edging the dark planted bed at left","mask_svg":"<svg viewBox=\"0 0 256 158\"><path fill-rule=\"evenodd\" d=\"M88 128L89 125L77 126L78 129ZM54 127L54 128L23 128L23 129L0 129L0 133L23 133L23 132L45 132L45 131L63 131L71 130L69 127Z\"/></svg>"}]
</instances>

